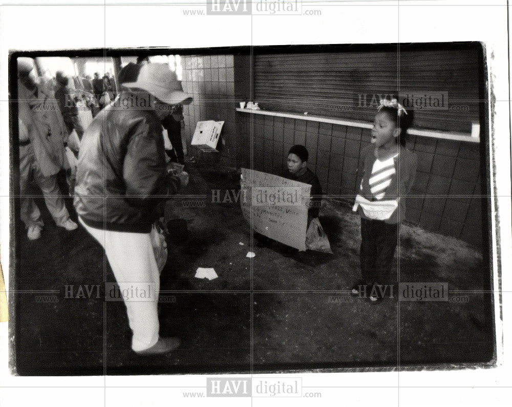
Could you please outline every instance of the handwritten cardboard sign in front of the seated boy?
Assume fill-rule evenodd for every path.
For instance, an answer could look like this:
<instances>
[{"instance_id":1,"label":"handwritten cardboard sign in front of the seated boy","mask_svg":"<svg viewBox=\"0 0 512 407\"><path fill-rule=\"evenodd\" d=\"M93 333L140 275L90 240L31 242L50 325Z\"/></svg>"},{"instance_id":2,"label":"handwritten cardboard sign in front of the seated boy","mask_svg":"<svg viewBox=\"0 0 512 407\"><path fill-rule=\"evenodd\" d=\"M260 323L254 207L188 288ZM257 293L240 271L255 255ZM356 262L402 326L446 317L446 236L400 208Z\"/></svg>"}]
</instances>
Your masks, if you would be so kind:
<instances>
[{"instance_id":1,"label":"handwritten cardboard sign in front of the seated boy","mask_svg":"<svg viewBox=\"0 0 512 407\"><path fill-rule=\"evenodd\" d=\"M240 181L247 199L240 200L254 231L298 250L306 250L311 185L242 168Z\"/></svg>"}]
</instances>

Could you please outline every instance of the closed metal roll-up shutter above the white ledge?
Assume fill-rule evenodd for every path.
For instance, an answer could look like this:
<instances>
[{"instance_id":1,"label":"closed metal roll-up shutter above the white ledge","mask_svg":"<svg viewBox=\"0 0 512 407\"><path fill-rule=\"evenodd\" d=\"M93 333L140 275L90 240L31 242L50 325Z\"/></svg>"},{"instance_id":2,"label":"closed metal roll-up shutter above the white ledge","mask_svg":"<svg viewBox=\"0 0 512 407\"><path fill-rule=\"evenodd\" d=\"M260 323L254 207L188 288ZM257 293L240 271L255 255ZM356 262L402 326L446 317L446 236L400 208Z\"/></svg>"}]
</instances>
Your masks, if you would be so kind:
<instances>
[{"instance_id":1,"label":"closed metal roll-up shutter above the white ledge","mask_svg":"<svg viewBox=\"0 0 512 407\"><path fill-rule=\"evenodd\" d=\"M373 121L380 95L447 94L414 112L414 127L471 132L479 121L479 53L462 49L284 52L254 55L254 96L272 111ZM366 95L366 99L365 99ZM372 99L372 95L376 95ZM450 110L452 109L452 110Z\"/></svg>"}]
</instances>

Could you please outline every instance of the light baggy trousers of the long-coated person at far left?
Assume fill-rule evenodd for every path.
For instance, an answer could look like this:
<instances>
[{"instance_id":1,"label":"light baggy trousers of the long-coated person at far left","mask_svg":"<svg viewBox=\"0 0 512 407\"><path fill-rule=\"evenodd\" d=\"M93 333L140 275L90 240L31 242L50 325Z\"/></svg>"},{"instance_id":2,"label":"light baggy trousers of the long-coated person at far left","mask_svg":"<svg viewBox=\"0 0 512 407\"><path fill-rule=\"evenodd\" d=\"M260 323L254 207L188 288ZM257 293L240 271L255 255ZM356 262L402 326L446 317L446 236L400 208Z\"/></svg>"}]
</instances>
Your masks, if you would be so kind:
<instances>
[{"instance_id":1,"label":"light baggy trousers of the long-coated person at far left","mask_svg":"<svg viewBox=\"0 0 512 407\"><path fill-rule=\"evenodd\" d=\"M20 195L20 217L25 227L32 225L43 226L41 213L34 202L34 199L27 195L29 182L34 178L42 195L45 198L46 206L50 211L53 220L62 226L69 219L69 212L66 209L62 192L57 185L57 176L46 177L42 174L32 149L32 145L19 147L19 195Z\"/></svg>"}]
</instances>

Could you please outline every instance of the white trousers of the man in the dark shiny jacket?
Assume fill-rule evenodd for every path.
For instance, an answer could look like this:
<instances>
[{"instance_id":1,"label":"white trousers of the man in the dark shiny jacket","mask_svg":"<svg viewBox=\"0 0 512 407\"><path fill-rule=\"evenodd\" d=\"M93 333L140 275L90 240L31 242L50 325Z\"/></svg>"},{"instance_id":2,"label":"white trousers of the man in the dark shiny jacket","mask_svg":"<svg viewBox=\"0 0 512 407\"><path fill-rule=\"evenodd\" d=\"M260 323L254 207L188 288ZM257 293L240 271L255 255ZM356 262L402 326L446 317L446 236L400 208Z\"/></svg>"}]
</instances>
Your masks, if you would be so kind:
<instances>
[{"instance_id":1,"label":"white trousers of the man in the dark shiny jacket","mask_svg":"<svg viewBox=\"0 0 512 407\"><path fill-rule=\"evenodd\" d=\"M130 328L132 349L142 351L158 341L158 294L160 273L149 233L116 232L80 223L105 249L122 295ZM149 297L147 291L154 290ZM144 298L140 297L144 290ZM105 290L108 291L108 290ZM105 292L105 296L109 292ZM142 300L142 301L141 301Z\"/></svg>"}]
</instances>

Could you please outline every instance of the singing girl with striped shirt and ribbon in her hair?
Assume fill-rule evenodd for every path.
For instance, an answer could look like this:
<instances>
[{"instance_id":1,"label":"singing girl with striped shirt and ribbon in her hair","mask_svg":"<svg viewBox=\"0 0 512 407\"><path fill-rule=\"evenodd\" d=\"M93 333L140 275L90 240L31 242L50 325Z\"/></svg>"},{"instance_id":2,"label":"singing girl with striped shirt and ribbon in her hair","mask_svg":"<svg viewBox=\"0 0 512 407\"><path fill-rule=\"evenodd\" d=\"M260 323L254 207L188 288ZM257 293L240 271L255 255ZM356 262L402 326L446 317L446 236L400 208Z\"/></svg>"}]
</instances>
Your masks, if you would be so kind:
<instances>
[{"instance_id":1,"label":"singing girl with striped shirt and ribbon in her hair","mask_svg":"<svg viewBox=\"0 0 512 407\"><path fill-rule=\"evenodd\" d=\"M404 147L410 120L396 99L381 100L372 129L372 146L362 158L362 177L354 211L361 217L361 276L352 295L364 292L380 302L390 279L398 224L414 182L416 155ZM387 291L389 293L389 290Z\"/></svg>"}]
</instances>

